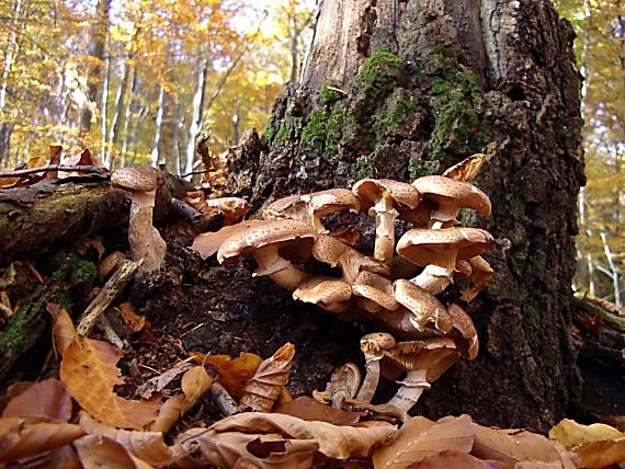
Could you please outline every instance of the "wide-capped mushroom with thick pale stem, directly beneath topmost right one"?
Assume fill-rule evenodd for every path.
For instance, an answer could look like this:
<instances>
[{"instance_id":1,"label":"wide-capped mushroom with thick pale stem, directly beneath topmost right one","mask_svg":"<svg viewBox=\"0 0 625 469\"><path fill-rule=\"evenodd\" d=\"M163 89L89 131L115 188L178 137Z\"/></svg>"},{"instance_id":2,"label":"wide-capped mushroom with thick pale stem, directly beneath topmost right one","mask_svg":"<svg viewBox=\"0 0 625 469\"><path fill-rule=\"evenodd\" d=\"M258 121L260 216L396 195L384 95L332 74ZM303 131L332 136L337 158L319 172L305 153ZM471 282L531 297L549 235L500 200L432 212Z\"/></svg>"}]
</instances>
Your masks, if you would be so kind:
<instances>
[{"instance_id":1,"label":"wide-capped mushroom with thick pale stem, directly beneath topmost right one","mask_svg":"<svg viewBox=\"0 0 625 469\"><path fill-rule=\"evenodd\" d=\"M410 282L438 295L452 283L458 261L480 254L493 242L492 236L479 228L413 228L399 239L397 252L410 262L425 266Z\"/></svg>"}]
</instances>

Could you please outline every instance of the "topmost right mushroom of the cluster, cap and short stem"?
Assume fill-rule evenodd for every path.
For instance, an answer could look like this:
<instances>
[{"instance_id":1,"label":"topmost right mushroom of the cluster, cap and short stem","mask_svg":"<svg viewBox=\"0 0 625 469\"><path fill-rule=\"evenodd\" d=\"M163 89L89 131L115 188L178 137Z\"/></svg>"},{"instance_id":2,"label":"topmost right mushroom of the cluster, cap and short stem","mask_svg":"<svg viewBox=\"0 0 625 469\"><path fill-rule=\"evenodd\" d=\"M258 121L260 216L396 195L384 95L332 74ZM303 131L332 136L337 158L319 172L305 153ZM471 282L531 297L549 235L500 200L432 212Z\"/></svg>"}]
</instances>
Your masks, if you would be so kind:
<instances>
[{"instance_id":1,"label":"topmost right mushroom of the cluster, cap and short stem","mask_svg":"<svg viewBox=\"0 0 625 469\"><path fill-rule=\"evenodd\" d=\"M439 204L439 208L432 211L433 224L430 228L455 225L456 215L463 207L477 210L485 217L490 215L491 205L488 195L468 182L429 175L419 178L412 185L424 199Z\"/></svg>"}]
</instances>

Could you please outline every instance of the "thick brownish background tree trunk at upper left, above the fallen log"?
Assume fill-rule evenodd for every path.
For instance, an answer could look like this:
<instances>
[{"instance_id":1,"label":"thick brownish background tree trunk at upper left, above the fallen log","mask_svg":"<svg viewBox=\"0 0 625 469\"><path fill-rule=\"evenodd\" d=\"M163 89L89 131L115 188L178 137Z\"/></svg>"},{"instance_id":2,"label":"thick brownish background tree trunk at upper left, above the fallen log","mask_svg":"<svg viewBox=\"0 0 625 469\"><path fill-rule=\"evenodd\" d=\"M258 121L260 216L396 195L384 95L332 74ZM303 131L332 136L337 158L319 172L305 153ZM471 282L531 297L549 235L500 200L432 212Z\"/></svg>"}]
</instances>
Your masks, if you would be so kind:
<instances>
[{"instance_id":1,"label":"thick brownish background tree trunk at upper left, above the fallen log","mask_svg":"<svg viewBox=\"0 0 625 469\"><path fill-rule=\"evenodd\" d=\"M106 44L106 32L109 30L109 9L111 0L98 0L95 16L91 24L91 38L89 43L89 56L93 60L90 66L87 83L88 103L80 110L80 135L84 137L91 130L93 108L100 102L102 92L102 64L104 62L104 46Z\"/></svg>"}]
</instances>

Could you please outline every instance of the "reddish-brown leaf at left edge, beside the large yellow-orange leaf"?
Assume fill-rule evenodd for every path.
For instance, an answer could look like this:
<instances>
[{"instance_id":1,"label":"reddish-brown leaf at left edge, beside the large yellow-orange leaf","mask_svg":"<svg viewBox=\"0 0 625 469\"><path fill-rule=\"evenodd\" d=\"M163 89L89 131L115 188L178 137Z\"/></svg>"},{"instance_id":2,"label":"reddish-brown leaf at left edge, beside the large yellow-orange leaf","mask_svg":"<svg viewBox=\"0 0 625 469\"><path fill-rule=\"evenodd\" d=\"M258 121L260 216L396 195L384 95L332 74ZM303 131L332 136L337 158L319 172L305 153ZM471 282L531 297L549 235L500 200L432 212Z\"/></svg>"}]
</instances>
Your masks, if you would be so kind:
<instances>
[{"instance_id":1,"label":"reddish-brown leaf at left edge, beside the large yellow-orange leaf","mask_svg":"<svg viewBox=\"0 0 625 469\"><path fill-rule=\"evenodd\" d=\"M61 381L46 379L14 397L4 408L2 416L44 416L68 422L71 416L71 397Z\"/></svg>"}]
</instances>

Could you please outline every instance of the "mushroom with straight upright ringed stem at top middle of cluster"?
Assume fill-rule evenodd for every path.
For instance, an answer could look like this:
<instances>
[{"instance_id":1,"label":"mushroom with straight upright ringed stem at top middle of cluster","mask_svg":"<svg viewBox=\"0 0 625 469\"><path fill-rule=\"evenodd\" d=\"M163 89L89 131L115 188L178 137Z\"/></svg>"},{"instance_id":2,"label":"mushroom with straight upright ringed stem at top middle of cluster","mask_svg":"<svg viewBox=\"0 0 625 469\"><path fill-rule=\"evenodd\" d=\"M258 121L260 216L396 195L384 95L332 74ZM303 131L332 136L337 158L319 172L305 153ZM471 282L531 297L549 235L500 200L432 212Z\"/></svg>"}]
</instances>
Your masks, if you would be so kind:
<instances>
[{"instance_id":1,"label":"mushroom with straight upright ringed stem at top middle of cluster","mask_svg":"<svg viewBox=\"0 0 625 469\"><path fill-rule=\"evenodd\" d=\"M395 249L395 219L399 211L413 210L419 205L419 192L399 181L363 179L352 188L361 201L361 208L375 216L374 258L393 264Z\"/></svg>"}]
</instances>

